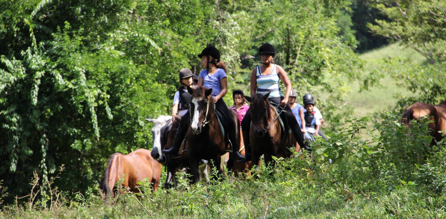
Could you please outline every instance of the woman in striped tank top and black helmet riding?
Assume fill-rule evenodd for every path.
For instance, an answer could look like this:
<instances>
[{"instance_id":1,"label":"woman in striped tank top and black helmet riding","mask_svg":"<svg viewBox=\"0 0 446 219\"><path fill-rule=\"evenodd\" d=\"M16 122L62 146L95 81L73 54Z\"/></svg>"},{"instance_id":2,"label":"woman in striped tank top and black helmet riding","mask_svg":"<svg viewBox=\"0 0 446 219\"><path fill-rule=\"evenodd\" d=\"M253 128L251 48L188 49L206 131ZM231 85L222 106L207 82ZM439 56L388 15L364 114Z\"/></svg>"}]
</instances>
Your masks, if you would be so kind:
<instances>
[{"instance_id":1,"label":"woman in striped tank top and black helmet riding","mask_svg":"<svg viewBox=\"0 0 446 219\"><path fill-rule=\"evenodd\" d=\"M291 108L289 107L288 97L292 89L291 82L289 81L285 70L282 69L281 66L276 65L273 62L273 57L275 55L273 45L269 43L261 45L259 48L259 54L263 65L257 66L255 69L252 70L251 96L254 95L256 92L263 95L270 92L268 101L284 107L285 111L281 114L281 118L284 122L288 122L288 125L291 127L294 138L296 138L299 146L301 146L301 148L305 148L306 150L311 150L310 147L305 146L301 128L299 127L299 124L297 123L297 120L294 117ZM279 84L280 81L285 84L285 95L281 92ZM251 116L249 114L250 113L248 110L241 123L244 143L246 146L248 146L248 150L251 149L251 147L249 146L249 129L251 127ZM251 159L251 156L250 154L248 155L248 153L245 157L246 160Z\"/></svg>"}]
</instances>

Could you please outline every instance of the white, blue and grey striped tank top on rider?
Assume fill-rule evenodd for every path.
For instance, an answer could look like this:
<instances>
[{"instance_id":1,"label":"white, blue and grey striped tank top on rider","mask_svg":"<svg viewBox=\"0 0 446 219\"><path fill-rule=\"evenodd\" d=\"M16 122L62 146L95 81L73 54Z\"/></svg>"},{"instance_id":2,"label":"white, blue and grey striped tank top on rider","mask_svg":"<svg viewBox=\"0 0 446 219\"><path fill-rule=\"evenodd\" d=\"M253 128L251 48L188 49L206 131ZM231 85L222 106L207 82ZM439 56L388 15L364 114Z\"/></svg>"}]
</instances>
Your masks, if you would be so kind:
<instances>
[{"instance_id":1,"label":"white, blue and grey striped tank top on rider","mask_svg":"<svg viewBox=\"0 0 446 219\"><path fill-rule=\"evenodd\" d=\"M260 66L257 66L257 93L262 95L269 94L269 98L281 97L283 96L280 85L279 85L279 75L277 74L276 65L274 64L273 72L269 75L262 75L260 73Z\"/></svg>"}]
</instances>

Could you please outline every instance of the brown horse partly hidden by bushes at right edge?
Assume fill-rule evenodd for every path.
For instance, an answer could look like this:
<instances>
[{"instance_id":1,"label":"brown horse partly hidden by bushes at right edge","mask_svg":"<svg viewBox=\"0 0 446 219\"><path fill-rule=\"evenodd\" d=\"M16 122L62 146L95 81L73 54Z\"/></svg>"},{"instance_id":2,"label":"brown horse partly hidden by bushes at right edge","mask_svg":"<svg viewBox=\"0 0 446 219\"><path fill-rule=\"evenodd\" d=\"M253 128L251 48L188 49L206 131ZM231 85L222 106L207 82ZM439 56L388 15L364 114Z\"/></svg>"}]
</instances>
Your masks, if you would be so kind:
<instances>
[{"instance_id":1,"label":"brown horse partly hidden by bushes at right edge","mask_svg":"<svg viewBox=\"0 0 446 219\"><path fill-rule=\"evenodd\" d=\"M438 105L430 105L427 103L416 102L404 110L401 116L401 123L406 127L410 127L410 121L419 120L422 117L429 117L429 134L434 137L431 146L437 144L446 135L446 101L442 101ZM441 133L438 133L438 132Z\"/></svg>"}]
</instances>

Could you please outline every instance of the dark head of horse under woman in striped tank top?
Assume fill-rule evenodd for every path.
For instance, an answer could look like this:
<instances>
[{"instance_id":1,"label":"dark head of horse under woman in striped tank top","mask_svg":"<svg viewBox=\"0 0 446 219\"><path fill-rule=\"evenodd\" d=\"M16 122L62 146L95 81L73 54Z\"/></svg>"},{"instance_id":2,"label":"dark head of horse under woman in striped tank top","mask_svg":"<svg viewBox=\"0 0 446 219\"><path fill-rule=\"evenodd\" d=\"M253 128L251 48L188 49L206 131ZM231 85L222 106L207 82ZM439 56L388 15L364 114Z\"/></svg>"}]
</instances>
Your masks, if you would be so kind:
<instances>
[{"instance_id":1,"label":"dark head of horse under woman in striped tank top","mask_svg":"<svg viewBox=\"0 0 446 219\"><path fill-rule=\"evenodd\" d=\"M254 94L252 97L245 97L246 100L251 102L249 111L251 115L251 124L256 131L257 136L263 137L266 132L266 126L268 126L268 113L269 113L269 93Z\"/></svg>"}]
</instances>

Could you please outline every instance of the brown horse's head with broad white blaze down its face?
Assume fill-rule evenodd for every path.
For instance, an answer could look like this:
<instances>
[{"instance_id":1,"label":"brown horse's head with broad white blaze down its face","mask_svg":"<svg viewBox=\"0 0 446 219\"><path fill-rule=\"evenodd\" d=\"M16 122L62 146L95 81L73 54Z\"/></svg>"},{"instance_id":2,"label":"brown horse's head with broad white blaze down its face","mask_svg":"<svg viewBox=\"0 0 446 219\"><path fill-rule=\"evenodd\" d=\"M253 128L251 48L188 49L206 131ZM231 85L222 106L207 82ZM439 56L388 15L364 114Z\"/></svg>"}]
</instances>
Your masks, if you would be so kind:
<instances>
[{"instance_id":1,"label":"brown horse's head with broad white blaze down its face","mask_svg":"<svg viewBox=\"0 0 446 219\"><path fill-rule=\"evenodd\" d=\"M192 94L190 99L190 127L193 134L200 134L202 128L211 121L214 115L214 99L212 89L197 87L195 90L190 87L187 91Z\"/></svg>"}]
</instances>

